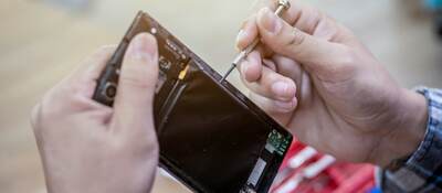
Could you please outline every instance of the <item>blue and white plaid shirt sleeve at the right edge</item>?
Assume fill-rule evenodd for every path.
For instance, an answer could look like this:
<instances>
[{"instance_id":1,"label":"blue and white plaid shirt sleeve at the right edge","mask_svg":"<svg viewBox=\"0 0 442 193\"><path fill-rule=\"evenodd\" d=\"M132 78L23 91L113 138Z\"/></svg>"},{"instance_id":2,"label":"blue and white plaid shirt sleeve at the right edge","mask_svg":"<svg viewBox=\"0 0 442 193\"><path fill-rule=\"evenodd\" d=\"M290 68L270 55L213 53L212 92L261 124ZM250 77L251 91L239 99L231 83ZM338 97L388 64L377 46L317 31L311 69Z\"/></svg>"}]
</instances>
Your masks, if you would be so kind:
<instances>
[{"instance_id":1,"label":"blue and white plaid shirt sleeve at the right edge","mask_svg":"<svg viewBox=\"0 0 442 193\"><path fill-rule=\"evenodd\" d=\"M424 140L406 164L383 171L383 192L442 192L442 89L417 88L428 101L429 120Z\"/></svg>"}]
</instances>

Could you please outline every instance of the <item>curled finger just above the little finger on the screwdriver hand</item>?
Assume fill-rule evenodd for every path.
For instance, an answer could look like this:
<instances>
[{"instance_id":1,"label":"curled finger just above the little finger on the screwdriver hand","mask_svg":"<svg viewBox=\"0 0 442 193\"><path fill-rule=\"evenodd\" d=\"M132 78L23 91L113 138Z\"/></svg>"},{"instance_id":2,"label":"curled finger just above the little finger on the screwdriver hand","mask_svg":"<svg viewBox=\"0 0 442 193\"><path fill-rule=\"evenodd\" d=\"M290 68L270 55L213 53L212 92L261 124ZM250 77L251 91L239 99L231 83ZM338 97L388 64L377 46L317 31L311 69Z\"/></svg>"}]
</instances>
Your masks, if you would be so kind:
<instances>
[{"instance_id":1,"label":"curled finger just above the little finger on the screwdriver hand","mask_svg":"<svg viewBox=\"0 0 442 193\"><path fill-rule=\"evenodd\" d=\"M282 76L266 66L262 67L261 78L257 82L250 83L244 79L243 82L252 92L275 100L291 101L296 94L296 85L293 79Z\"/></svg>"}]
</instances>

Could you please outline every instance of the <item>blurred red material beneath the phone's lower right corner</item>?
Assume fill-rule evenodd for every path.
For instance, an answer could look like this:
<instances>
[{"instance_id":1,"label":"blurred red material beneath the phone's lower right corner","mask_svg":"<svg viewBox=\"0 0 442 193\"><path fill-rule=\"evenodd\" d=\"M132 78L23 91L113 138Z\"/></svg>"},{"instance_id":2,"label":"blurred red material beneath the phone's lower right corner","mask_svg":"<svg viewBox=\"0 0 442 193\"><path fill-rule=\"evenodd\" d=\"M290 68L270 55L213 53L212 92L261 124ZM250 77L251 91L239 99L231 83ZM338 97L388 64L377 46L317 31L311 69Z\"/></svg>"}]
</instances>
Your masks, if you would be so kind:
<instances>
[{"instance_id":1,"label":"blurred red material beneath the phone's lower right corner","mask_svg":"<svg viewBox=\"0 0 442 193\"><path fill-rule=\"evenodd\" d=\"M324 156L316 153L297 169L291 169L288 162L305 148L294 141L280 169L280 179L273 184L272 193L365 193L375 186L375 167L371 164L354 164L334 162L313 179L304 179L295 189L294 179L301 175L304 169L311 167ZM284 174L284 176L282 176ZM282 180L281 180L282 179Z\"/></svg>"}]
</instances>

